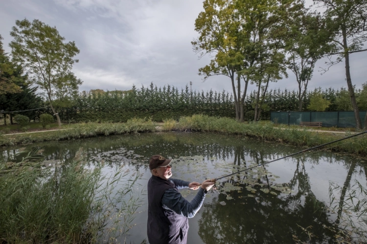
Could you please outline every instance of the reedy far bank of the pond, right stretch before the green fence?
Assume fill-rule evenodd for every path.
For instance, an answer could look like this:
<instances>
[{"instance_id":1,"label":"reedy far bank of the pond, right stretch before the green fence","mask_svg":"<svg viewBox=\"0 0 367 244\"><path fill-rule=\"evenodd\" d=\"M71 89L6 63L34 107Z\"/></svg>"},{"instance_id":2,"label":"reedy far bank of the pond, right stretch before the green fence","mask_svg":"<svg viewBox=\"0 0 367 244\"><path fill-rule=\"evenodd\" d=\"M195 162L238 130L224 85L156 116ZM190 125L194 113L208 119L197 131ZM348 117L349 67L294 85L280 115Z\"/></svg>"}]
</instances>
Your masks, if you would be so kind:
<instances>
[{"instance_id":1,"label":"reedy far bank of the pond, right stretch before the green fence","mask_svg":"<svg viewBox=\"0 0 367 244\"><path fill-rule=\"evenodd\" d=\"M204 115L181 117L176 129L182 131L221 132L243 135L260 140L284 142L297 146L317 146L345 137L345 135L321 134L299 127L277 126L272 123L240 123L229 118L214 118ZM346 134L347 135L347 134ZM327 146L330 150L367 155L367 135L336 142Z\"/></svg>"}]
</instances>

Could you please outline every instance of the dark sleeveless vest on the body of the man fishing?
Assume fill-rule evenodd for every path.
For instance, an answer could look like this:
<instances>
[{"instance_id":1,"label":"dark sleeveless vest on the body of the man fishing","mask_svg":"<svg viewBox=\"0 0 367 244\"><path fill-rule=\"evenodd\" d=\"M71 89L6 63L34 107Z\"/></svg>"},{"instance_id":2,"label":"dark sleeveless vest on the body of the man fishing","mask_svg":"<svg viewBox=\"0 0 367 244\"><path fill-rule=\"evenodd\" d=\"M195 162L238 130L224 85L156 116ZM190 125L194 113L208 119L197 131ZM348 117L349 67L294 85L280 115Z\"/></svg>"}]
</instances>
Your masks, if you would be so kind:
<instances>
[{"instance_id":1,"label":"dark sleeveless vest on the body of the man fishing","mask_svg":"<svg viewBox=\"0 0 367 244\"><path fill-rule=\"evenodd\" d=\"M162 207L161 198L174 183L152 176L148 182L148 241L150 244L185 244L188 220Z\"/></svg>"}]
</instances>

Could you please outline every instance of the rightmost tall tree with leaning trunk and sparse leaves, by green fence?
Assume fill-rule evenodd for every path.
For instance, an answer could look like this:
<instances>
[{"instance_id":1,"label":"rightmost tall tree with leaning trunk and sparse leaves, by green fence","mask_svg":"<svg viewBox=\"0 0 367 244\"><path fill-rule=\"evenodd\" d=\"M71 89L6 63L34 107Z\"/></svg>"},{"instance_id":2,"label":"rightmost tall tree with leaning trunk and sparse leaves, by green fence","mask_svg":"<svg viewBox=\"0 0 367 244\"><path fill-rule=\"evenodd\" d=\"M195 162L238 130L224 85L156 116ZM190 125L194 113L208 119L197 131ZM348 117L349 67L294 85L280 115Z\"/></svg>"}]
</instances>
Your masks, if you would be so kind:
<instances>
[{"instance_id":1,"label":"rightmost tall tree with leaning trunk and sparse leaves, by green fence","mask_svg":"<svg viewBox=\"0 0 367 244\"><path fill-rule=\"evenodd\" d=\"M362 129L350 75L349 55L367 51L367 49L362 49L364 42L367 41L367 0L316 0L316 3L326 9L323 16L328 30L333 34L333 38L330 39L333 45L330 55L339 56L336 61L330 61L329 65L345 59L346 83L354 110L356 127Z\"/></svg>"}]
</instances>

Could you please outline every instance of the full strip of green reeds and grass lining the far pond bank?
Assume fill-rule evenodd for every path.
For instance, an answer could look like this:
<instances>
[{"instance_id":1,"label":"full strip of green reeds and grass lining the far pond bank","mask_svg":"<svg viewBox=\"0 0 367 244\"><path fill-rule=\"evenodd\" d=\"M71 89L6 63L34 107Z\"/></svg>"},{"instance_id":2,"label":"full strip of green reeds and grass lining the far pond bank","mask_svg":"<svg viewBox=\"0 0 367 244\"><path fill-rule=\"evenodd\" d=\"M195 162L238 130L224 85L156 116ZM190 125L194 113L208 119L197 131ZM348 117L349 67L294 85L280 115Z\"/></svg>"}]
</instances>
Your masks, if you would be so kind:
<instances>
[{"instance_id":1,"label":"full strip of green reeds and grass lining the far pond bank","mask_svg":"<svg viewBox=\"0 0 367 244\"><path fill-rule=\"evenodd\" d=\"M299 126L274 125L271 122L242 123L230 118L216 118L206 115L181 117L179 122L172 119L166 120L160 127L163 131L219 132L308 147L344 137L342 134L334 135L312 132ZM0 146L154 131L156 131L156 124L146 119L133 119L126 123L79 123L70 124L65 126L65 129L47 133L0 136ZM348 132L346 131L345 134L348 135ZM328 148L334 151L367 155L367 136L363 135L337 142L329 145Z\"/></svg>"}]
</instances>

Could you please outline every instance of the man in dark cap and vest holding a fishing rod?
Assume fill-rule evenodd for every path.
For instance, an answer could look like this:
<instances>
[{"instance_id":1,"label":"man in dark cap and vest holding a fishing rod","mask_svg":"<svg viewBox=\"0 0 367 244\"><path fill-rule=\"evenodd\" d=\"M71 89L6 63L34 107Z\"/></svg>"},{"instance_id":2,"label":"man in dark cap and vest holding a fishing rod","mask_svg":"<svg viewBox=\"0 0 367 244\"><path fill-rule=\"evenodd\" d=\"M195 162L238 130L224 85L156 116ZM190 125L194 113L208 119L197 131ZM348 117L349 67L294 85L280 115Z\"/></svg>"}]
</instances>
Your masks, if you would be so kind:
<instances>
[{"instance_id":1,"label":"man in dark cap and vest holding a fishing rod","mask_svg":"<svg viewBox=\"0 0 367 244\"><path fill-rule=\"evenodd\" d=\"M148 182L148 241L150 244L186 244L188 218L192 218L203 205L206 193L214 182L186 182L169 179L172 176L171 159L154 155L149 160L152 177ZM178 189L199 189L188 202Z\"/></svg>"}]
</instances>

